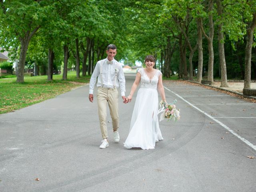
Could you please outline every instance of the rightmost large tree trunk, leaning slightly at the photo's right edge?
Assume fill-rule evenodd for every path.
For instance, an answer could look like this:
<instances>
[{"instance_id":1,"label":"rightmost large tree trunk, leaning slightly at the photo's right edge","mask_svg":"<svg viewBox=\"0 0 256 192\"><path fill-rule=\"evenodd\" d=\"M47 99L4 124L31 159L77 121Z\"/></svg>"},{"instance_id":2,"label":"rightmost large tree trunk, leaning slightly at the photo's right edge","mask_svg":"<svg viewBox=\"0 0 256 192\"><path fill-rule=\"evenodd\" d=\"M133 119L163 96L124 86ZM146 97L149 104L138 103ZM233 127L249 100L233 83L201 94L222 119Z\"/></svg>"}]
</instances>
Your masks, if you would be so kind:
<instances>
[{"instance_id":1,"label":"rightmost large tree trunk, leaning slightly at the photo's right edge","mask_svg":"<svg viewBox=\"0 0 256 192\"><path fill-rule=\"evenodd\" d=\"M252 60L252 43L253 43L253 33L256 27L256 12L253 14L252 23L247 29L247 42L245 48L245 70L244 70L244 88L251 88L251 60Z\"/></svg>"}]
</instances>

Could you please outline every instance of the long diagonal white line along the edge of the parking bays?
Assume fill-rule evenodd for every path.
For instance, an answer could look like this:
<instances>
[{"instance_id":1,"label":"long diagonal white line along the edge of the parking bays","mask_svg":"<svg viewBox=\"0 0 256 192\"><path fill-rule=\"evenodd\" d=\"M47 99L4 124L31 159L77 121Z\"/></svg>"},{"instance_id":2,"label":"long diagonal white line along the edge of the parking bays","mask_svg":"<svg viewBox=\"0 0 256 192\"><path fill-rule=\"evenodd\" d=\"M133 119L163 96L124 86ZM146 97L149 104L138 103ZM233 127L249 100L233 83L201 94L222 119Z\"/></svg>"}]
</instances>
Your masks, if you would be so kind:
<instances>
[{"instance_id":1,"label":"long diagonal white line along the edge of the parking bays","mask_svg":"<svg viewBox=\"0 0 256 192\"><path fill-rule=\"evenodd\" d=\"M253 148L254 150L256 150L256 145L253 145L251 142L249 142L248 140L246 140L245 138L241 137L240 135L238 135L236 132L234 132L232 129L230 129L228 126L226 126L225 124L223 124L222 122L220 122L219 120L217 120L216 118L212 117L211 115L207 114L206 112L204 112L203 110L199 109L198 107L194 106L193 104L191 104L190 102L188 102L187 100L185 100L182 96L174 93L173 91L171 91L170 89L164 87L166 90L172 92L174 95L176 95L177 97L179 97L180 99L182 99L184 102L188 103L190 106L194 107L196 110L200 111L201 113L203 113L204 115L208 116L210 119L214 120L215 122L217 122L219 125L221 125L222 127L224 127L226 130L228 130L230 133L232 133L234 136L236 136L237 138L239 138L240 140L242 140L242 142L246 143L248 146L250 146L251 148Z\"/></svg>"}]
</instances>

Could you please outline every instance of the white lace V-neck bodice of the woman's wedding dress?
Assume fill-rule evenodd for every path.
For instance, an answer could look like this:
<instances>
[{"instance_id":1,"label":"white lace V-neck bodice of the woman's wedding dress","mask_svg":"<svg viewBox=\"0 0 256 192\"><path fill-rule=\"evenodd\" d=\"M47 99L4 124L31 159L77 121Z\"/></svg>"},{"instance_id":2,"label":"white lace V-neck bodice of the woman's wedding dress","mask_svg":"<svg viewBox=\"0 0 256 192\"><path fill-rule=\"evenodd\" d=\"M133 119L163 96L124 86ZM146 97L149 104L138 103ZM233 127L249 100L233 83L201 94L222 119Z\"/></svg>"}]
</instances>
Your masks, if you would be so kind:
<instances>
[{"instance_id":1,"label":"white lace V-neck bodice of the woman's wedding dress","mask_svg":"<svg viewBox=\"0 0 256 192\"><path fill-rule=\"evenodd\" d=\"M157 85L158 85L158 78L159 76L162 74L160 72L160 70L157 70L154 77L152 79L150 79L144 68L141 68L138 70L138 72L141 74L141 78L140 78L140 87L141 88L154 88L157 89Z\"/></svg>"}]
</instances>

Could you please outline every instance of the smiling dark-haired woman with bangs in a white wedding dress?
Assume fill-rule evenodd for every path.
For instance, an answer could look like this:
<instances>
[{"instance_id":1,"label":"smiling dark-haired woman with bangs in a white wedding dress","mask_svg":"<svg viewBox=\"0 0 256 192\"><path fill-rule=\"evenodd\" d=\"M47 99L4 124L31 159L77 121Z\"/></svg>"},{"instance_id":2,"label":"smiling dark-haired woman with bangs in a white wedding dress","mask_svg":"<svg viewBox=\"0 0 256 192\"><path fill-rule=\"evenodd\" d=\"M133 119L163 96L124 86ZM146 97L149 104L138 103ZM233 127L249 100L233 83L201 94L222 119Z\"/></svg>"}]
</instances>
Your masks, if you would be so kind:
<instances>
[{"instance_id":1,"label":"smiling dark-haired woman with bangs in a white wedding dress","mask_svg":"<svg viewBox=\"0 0 256 192\"><path fill-rule=\"evenodd\" d=\"M163 140L158 124L158 91L162 100L166 102L162 73L154 69L156 59L152 55L145 58L146 68L141 68L136 74L130 95L126 103L131 102L132 96L140 83L137 98L132 113L129 135L124 147L139 147L154 149L158 140Z\"/></svg>"}]
</instances>

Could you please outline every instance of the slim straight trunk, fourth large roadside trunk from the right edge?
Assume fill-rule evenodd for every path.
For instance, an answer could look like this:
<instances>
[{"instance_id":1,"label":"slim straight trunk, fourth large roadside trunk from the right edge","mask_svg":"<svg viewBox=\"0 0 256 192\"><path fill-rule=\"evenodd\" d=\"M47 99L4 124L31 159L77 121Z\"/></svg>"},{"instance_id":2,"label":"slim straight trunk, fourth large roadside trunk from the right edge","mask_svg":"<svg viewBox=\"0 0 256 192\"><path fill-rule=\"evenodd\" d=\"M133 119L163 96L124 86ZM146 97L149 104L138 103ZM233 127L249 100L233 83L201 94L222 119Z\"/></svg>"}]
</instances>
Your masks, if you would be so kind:
<instances>
[{"instance_id":1,"label":"slim straight trunk, fourth large roadside trunk from the right edge","mask_svg":"<svg viewBox=\"0 0 256 192\"><path fill-rule=\"evenodd\" d=\"M203 72L203 39L202 39L202 30L200 19L196 19L197 24L197 34L198 34L198 68L197 68L197 82L202 81L202 72Z\"/></svg>"}]
</instances>

